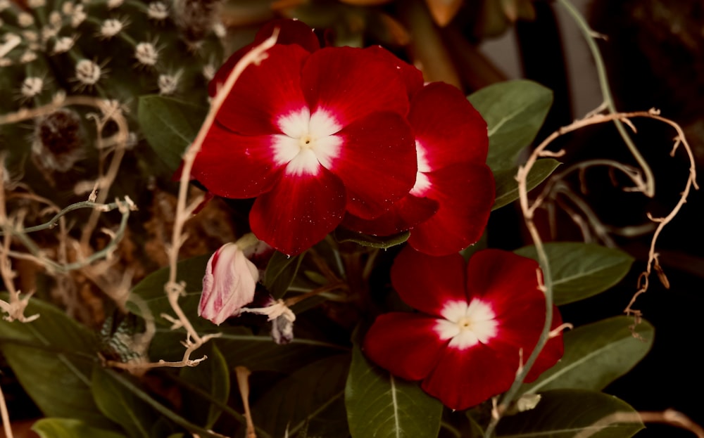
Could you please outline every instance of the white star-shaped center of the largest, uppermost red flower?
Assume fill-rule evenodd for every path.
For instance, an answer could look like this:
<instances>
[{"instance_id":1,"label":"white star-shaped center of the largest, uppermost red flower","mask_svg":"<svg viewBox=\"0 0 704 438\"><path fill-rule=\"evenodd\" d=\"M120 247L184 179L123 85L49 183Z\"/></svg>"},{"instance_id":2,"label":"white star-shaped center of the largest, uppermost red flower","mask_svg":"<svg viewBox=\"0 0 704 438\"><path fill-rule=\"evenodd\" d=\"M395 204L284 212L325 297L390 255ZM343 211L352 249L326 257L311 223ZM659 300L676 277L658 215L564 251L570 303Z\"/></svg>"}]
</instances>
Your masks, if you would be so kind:
<instances>
[{"instance_id":1,"label":"white star-shaped center of the largest, uppermost red flower","mask_svg":"<svg viewBox=\"0 0 704 438\"><path fill-rule=\"evenodd\" d=\"M342 127L326 110L310 114L301 108L282 115L276 124L284 134L273 136L274 160L286 165L287 174L317 175L320 166L329 169L340 154L342 138L334 134Z\"/></svg>"}]
</instances>

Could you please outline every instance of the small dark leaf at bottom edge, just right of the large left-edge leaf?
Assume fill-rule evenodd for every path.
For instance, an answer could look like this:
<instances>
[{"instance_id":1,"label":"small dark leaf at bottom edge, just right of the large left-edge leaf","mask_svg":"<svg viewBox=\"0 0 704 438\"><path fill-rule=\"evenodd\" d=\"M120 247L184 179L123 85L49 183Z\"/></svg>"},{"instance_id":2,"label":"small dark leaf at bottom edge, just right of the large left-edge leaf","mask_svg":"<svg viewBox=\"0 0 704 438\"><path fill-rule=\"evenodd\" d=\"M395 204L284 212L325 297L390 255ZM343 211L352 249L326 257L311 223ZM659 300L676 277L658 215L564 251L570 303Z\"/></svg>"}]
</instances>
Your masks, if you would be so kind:
<instances>
[{"instance_id":1,"label":"small dark leaf at bottom edge, just right of the large left-edge leaf","mask_svg":"<svg viewBox=\"0 0 704 438\"><path fill-rule=\"evenodd\" d=\"M158 414L151 406L120 385L101 366L93 368L93 397L106 417L118 423L132 438L149 438Z\"/></svg>"}]
</instances>

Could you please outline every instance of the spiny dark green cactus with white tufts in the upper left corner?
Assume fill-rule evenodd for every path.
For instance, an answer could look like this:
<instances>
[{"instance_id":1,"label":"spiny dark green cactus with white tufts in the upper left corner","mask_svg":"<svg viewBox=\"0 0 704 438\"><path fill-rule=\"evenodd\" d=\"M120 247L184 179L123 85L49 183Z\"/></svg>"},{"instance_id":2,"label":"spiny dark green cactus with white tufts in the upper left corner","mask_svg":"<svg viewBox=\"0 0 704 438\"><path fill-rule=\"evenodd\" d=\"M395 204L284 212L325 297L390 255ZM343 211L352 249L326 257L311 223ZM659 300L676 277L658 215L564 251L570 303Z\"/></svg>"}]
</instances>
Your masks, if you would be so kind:
<instances>
[{"instance_id":1,"label":"spiny dark green cactus with white tufts in the upper left corner","mask_svg":"<svg viewBox=\"0 0 704 438\"><path fill-rule=\"evenodd\" d=\"M0 0L0 115L65 96L112 101L129 124L131 150L125 159L142 169L137 172L142 178L132 173L127 185L143 187L158 159L141 141L138 98L162 94L206 105L208 80L222 61L218 34L224 27L213 25L217 6L193 0L173 5L162 0L28 0L22 7ZM0 126L0 151L11 177L54 195L58 203L67 202L56 195L98 176L96 136L115 132L108 124L96 133L96 123L87 117L91 112L99 111L64 107L30 122ZM116 183L121 182L118 178Z\"/></svg>"}]
</instances>

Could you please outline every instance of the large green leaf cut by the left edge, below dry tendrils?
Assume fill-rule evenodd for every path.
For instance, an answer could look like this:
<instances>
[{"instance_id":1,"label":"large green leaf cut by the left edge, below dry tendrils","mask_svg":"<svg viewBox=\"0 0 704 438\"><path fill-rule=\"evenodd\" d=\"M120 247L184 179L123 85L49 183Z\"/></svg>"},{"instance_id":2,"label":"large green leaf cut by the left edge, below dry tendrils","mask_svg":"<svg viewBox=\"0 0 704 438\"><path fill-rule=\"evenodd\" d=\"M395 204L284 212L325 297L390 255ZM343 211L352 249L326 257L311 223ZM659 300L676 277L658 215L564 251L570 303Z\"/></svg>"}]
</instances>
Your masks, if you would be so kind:
<instances>
[{"instance_id":1,"label":"large green leaf cut by the left edge, below dry tendrils","mask_svg":"<svg viewBox=\"0 0 704 438\"><path fill-rule=\"evenodd\" d=\"M8 295L0 298L7 300ZM96 336L39 299L30 299L25 314L40 316L31 323L0 320L0 350L44 416L115 428L91 394L90 375L99 351Z\"/></svg>"}]
</instances>

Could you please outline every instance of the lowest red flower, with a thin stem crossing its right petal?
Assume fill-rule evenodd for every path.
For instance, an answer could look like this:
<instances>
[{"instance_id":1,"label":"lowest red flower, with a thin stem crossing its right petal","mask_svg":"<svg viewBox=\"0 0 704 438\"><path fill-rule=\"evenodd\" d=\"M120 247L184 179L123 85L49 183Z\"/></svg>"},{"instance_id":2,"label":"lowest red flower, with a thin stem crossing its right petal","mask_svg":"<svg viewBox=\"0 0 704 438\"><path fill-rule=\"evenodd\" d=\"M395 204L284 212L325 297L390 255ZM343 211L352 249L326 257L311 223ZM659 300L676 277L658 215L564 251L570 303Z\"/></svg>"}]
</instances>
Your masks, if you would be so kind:
<instances>
[{"instance_id":1,"label":"lowest red flower, with a thin stem crossing its right petal","mask_svg":"<svg viewBox=\"0 0 704 438\"><path fill-rule=\"evenodd\" d=\"M406 247L391 267L404 302L423 313L377 318L364 352L382 368L453 409L466 409L508 390L528 359L545 320L538 264L513 252L483 250L465 268L460 255L429 257ZM553 328L562 323L557 308ZM562 336L549 340L526 381L562 357Z\"/></svg>"}]
</instances>

